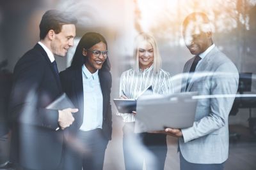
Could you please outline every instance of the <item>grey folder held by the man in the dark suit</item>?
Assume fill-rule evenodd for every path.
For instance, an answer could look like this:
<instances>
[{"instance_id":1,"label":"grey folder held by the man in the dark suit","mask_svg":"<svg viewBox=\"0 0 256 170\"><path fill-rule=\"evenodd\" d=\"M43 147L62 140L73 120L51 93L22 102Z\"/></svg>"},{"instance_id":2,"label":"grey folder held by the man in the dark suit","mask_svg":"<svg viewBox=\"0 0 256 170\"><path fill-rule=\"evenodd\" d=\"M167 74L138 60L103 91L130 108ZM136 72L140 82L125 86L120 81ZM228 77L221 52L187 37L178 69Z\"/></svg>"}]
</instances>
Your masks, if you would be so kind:
<instances>
[{"instance_id":1,"label":"grey folder held by the man in the dark suit","mask_svg":"<svg viewBox=\"0 0 256 170\"><path fill-rule=\"evenodd\" d=\"M63 93L57 97L51 104L46 106L49 110L63 110L67 108L76 108L72 101L68 98L67 94Z\"/></svg>"}]
</instances>

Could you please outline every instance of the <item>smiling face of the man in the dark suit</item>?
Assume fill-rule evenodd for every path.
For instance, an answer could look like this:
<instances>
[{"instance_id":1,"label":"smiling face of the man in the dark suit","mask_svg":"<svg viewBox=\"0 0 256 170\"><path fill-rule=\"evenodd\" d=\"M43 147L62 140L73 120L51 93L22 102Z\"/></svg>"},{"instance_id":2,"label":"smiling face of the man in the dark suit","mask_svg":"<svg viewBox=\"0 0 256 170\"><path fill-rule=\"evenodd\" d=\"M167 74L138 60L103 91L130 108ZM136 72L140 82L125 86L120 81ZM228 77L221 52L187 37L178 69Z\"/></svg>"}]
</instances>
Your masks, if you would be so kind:
<instances>
[{"instance_id":1,"label":"smiling face of the man in the dark suit","mask_svg":"<svg viewBox=\"0 0 256 170\"><path fill-rule=\"evenodd\" d=\"M76 36L76 27L74 24L62 25L61 32L53 33L51 41L51 50L54 55L64 57L68 49L74 45L74 37Z\"/></svg>"}]
</instances>

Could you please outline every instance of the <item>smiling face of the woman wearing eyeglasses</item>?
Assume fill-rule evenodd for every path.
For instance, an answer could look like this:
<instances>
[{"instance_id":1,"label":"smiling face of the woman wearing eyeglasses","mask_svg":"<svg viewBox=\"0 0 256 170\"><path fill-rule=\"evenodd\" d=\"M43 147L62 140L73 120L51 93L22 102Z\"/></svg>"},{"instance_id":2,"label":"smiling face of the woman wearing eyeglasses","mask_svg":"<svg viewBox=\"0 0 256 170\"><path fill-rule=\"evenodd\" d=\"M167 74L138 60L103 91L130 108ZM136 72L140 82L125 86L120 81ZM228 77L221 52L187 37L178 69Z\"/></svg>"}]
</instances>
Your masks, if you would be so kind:
<instances>
[{"instance_id":1,"label":"smiling face of the woman wearing eyeglasses","mask_svg":"<svg viewBox=\"0 0 256 170\"><path fill-rule=\"evenodd\" d=\"M94 50L99 50L101 52L102 51L106 51L107 50L107 46L106 46L105 43L100 41L100 43L97 43L97 44L93 45L88 50L83 49L83 55L84 55L84 57L86 57L86 62L84 64L84 66L86 66L86 68L91 73L95 73L97 71L97 69L101 69L102 68L102 64L106 60L106 58L102 55L102 53L100 53L99 57L96 57L93 54L93 52L92 52Z\"/></svg>"}]
</instances>

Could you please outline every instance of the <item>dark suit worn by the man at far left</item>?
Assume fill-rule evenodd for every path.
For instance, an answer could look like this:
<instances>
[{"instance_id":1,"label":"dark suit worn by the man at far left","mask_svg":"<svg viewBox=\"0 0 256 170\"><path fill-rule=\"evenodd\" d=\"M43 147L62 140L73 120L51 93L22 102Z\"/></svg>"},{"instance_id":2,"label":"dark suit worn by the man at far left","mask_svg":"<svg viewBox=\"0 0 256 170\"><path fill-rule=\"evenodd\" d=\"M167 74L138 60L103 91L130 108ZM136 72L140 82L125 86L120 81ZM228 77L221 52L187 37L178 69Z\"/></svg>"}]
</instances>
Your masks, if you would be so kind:
<instances>
[{"instance_id":1,"label":"dark suit worn by the man at far left","mask_svg":"<svg viewBox=\"0 0 256 170\"><path fill-rule=\"evenodd\" d=\"M42 46L25 53L15 65L10 95L11 160L29 169L56 169L60 164L63 131L58 111L46 110L62 93L51 61Z\"/></svg>"}]
</instances>

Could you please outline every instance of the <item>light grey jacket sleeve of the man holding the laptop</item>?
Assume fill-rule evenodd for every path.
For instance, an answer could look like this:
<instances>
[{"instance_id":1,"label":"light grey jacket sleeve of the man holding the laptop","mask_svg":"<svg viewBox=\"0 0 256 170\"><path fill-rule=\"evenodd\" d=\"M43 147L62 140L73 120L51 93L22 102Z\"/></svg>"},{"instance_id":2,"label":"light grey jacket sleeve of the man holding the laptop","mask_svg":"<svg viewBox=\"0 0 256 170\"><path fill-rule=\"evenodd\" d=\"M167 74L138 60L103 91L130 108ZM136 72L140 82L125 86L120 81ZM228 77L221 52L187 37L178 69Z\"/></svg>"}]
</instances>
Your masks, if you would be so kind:
<instances>
[{"instance_id":1,"label":"light grey jacket sleeve of the man holding the laptop","mask_svg":"<svg viewBox=\"0 0 256 170\"><path fill-rule=\"evenodd\" d=\"M225 97L225 95L236 94L238 79L234 64L225 63L218 67L211 80L210 94L212 98L209 99L209 114L194 122L193 127L181 130L185 143L228 124L228 114L232 108L234 97ZM214 95L218 97L213 97Z\"/></svg>"}]
</instances>

